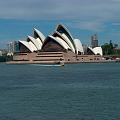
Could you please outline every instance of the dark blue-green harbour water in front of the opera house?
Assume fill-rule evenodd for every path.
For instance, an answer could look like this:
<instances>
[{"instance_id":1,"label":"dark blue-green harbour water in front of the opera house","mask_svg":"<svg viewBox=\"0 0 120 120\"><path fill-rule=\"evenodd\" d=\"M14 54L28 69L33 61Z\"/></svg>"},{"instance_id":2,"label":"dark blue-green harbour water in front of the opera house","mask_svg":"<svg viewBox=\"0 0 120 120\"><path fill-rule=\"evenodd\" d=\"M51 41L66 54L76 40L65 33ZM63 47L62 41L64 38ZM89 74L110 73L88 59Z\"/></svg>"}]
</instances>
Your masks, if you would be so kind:
<instances>
[{"instance_id":1,"label":"dark blue-green harbour water in front of the opera house","mask_svg":"<svg viewBox=\"0 0 120 120\"><path fill-rule=\"evenodd\" d=\"M0 64L0 120L119 120L120 63Z\"/></svg>"}]
</instances>

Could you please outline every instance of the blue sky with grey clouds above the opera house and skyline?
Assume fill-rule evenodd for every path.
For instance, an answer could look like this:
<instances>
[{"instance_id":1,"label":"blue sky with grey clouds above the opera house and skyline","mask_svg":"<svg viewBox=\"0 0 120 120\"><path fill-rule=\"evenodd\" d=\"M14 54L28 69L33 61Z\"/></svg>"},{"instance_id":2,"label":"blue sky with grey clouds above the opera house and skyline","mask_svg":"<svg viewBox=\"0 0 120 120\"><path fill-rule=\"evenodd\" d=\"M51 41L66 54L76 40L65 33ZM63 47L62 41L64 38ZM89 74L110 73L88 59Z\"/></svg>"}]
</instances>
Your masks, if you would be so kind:
<instances>
[{"instance_id":1,"label":"blue sky with grey clouds above the opera house and skyline","mask_svg":"<svg viewBox=\"0 0 120 120\"><path fill-rule=\"evenodd\" d=\"M100 44L120 44L119 13L120 0L0 0L0 48L25 40L34 27L47 36L58 23L83 44L95 33Z\"/></svg>"}]
</instances>

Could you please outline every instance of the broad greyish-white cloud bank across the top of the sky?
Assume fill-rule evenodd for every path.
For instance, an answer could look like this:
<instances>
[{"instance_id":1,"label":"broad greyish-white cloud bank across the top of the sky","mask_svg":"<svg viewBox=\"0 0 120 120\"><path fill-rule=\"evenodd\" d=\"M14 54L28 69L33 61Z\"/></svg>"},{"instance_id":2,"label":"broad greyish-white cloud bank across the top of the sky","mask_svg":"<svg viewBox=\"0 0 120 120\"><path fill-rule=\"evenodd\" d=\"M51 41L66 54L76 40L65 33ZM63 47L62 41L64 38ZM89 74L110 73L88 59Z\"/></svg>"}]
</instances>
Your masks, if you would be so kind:
<instances>
[{"instance_id":1,"label":"broad greyish-white cloud bank across the top of the sky","mask_svg":"<svg viewBox=\"0 0 120 120\"><path fill-rule=\"evenodd\" d=\"M119 0L1 0L0 18L69 20L79 29L103 31L105 22L118 23L119 6Z\"/></svg>"}]
</instances>

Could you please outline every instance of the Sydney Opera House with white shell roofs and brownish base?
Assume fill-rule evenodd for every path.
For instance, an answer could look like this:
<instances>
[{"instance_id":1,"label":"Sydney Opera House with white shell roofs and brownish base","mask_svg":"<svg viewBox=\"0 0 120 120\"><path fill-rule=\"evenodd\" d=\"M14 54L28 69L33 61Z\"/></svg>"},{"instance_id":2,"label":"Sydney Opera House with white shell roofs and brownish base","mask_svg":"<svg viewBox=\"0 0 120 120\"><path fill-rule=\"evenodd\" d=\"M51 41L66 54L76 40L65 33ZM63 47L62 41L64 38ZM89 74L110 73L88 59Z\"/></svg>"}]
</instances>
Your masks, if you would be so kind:
<instances>
[{"instance_id":1,"label":"Sydney Opera House with white shell roofs and brownish base","mask_svg":"<svg viewBox=\"0 0 120 120\"><path fill-rule=\"evenodd\" d=\"M13 63L78 63L102 60L101 47L84 48L79 39L73 38L62 24L45 37L34 28L33 35L19 40L19 52L14 53Z\"/></svg>"}]
</instances>

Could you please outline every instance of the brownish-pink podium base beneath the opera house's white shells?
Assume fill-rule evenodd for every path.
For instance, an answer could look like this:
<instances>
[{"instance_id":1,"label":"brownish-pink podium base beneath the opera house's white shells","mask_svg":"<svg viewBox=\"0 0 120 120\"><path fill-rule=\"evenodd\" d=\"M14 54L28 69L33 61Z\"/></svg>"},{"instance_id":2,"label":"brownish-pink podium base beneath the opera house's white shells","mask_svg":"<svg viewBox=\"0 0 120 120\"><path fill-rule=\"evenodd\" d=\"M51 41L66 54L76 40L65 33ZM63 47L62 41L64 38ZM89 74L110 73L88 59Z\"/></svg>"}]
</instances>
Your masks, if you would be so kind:
<instances>
[{"instance_id":1,"label":"brownish-pink podium base beneath the opera house's white shells","mask_svg":"<svg viewBox=\"0 0 120 120\"><path fill-rule=\"evenodd\" d=\"M15 53L12 61L8 64L59 64L103 62L100 55L77 55L71 51L67 52L33 52Z\"/></svg>"}]
</instances>

